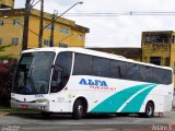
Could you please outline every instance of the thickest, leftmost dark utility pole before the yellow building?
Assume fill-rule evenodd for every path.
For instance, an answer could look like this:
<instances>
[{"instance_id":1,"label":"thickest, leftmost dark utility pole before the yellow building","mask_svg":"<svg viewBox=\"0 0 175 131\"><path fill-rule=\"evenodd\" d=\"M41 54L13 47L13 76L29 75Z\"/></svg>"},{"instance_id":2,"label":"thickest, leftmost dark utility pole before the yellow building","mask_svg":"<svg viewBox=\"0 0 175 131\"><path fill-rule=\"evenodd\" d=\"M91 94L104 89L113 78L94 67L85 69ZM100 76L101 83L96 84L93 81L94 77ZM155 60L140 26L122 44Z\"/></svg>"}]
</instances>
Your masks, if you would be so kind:
<instances>
[{"instance_id":1,"label":"thickest, leftmost dark utility pole before the yellow building","mask_svg":"<svg viewBox=\"0 0 175 131\"><path fill-rule=\"evenodd\" d=\"M25 14L24 14L25 17L24 17L22 50L27 49L30 14L31 14L31 0L26 0L26 2L25 2Z\"/></svg>"}]
</instances>

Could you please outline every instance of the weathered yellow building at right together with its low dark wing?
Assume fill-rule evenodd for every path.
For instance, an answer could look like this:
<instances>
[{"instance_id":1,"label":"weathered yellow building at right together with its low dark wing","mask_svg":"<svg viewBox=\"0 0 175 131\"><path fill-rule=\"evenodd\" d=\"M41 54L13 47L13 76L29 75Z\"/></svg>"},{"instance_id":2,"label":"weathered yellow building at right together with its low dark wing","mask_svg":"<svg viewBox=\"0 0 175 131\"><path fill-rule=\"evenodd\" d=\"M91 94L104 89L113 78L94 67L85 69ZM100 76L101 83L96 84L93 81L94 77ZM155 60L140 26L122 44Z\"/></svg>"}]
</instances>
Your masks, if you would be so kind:
<instances>
[{"instance_id":1,"label":"weathered yellow building at right together with its low dark wing","mask_svg":"<svg viewBox=\"0 0 175 131\"><path fill-rule=\"evenodd\" d=\"M175 70L175 32L143 32L141 48L92 48Z\"/></svg>"}]
</instances>

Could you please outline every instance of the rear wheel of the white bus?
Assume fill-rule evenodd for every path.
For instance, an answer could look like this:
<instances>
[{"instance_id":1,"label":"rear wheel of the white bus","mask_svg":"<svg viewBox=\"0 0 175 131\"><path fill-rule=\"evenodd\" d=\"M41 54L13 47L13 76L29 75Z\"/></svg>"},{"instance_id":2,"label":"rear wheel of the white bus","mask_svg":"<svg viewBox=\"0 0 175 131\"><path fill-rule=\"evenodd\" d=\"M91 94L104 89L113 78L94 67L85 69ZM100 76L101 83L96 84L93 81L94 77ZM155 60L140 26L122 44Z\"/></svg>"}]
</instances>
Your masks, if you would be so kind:
<instances>
[{"instance_id":1,"label":"rear wheel of the white bus","mask_svg":"<svg viewBox=\"0 0 175 131\"><path fill-rule=\"evenodd\" d=\"M148 103L145 106L144 117L151 118L154 115L154 105L153 103Z\"/></svg>"}]
</instances>

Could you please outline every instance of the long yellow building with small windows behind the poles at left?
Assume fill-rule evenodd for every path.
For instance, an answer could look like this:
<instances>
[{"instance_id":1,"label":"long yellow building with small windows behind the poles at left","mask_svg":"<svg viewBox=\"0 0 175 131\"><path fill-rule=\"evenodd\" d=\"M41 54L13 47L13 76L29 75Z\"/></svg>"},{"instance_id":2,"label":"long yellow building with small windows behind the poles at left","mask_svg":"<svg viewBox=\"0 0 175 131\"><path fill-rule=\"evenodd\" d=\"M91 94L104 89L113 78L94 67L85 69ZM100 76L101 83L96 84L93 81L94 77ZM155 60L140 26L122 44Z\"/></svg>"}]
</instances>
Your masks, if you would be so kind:
<instances>
[{"instance_id":1,"label":"long yellow building with small windows behind the poles at left","mask_svg":"<svg viewBox=\"0 0 175 131\"><path fill-rule=\"evenodd\" d=\"M40 11L32 9L28 24L27 48L38 47ZM52 14L44 13L43 47L49 46ZM0 46L11 45L0 55L18 57L22 50L24 29L24 9L0 10ZM59 17L54 27L54 46L84 47L88 27L75 24L74 21Z\"/></svg>"}]
</instances>

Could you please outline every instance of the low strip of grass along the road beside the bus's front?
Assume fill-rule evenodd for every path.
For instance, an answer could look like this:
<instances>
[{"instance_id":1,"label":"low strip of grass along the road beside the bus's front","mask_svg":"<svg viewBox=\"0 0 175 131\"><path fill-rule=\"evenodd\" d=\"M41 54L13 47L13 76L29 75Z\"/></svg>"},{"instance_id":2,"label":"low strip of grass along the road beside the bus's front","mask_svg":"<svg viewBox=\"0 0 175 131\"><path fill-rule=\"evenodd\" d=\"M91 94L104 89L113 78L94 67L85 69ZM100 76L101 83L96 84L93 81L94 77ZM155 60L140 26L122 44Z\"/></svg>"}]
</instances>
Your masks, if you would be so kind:
<instances>
[{"instance_id":1,"label":"low strip of grass along the road beside the bus's front","mask_svg":"<svg viewBox=\"0 0 175 131\"><path fill-rule=\"evenodd\" d=\"M9 114L38 114L36 110L24 110L24 109L14 109L10 107L0 106L0 112L9 112Z\"/></svg>"}]
</instances>

